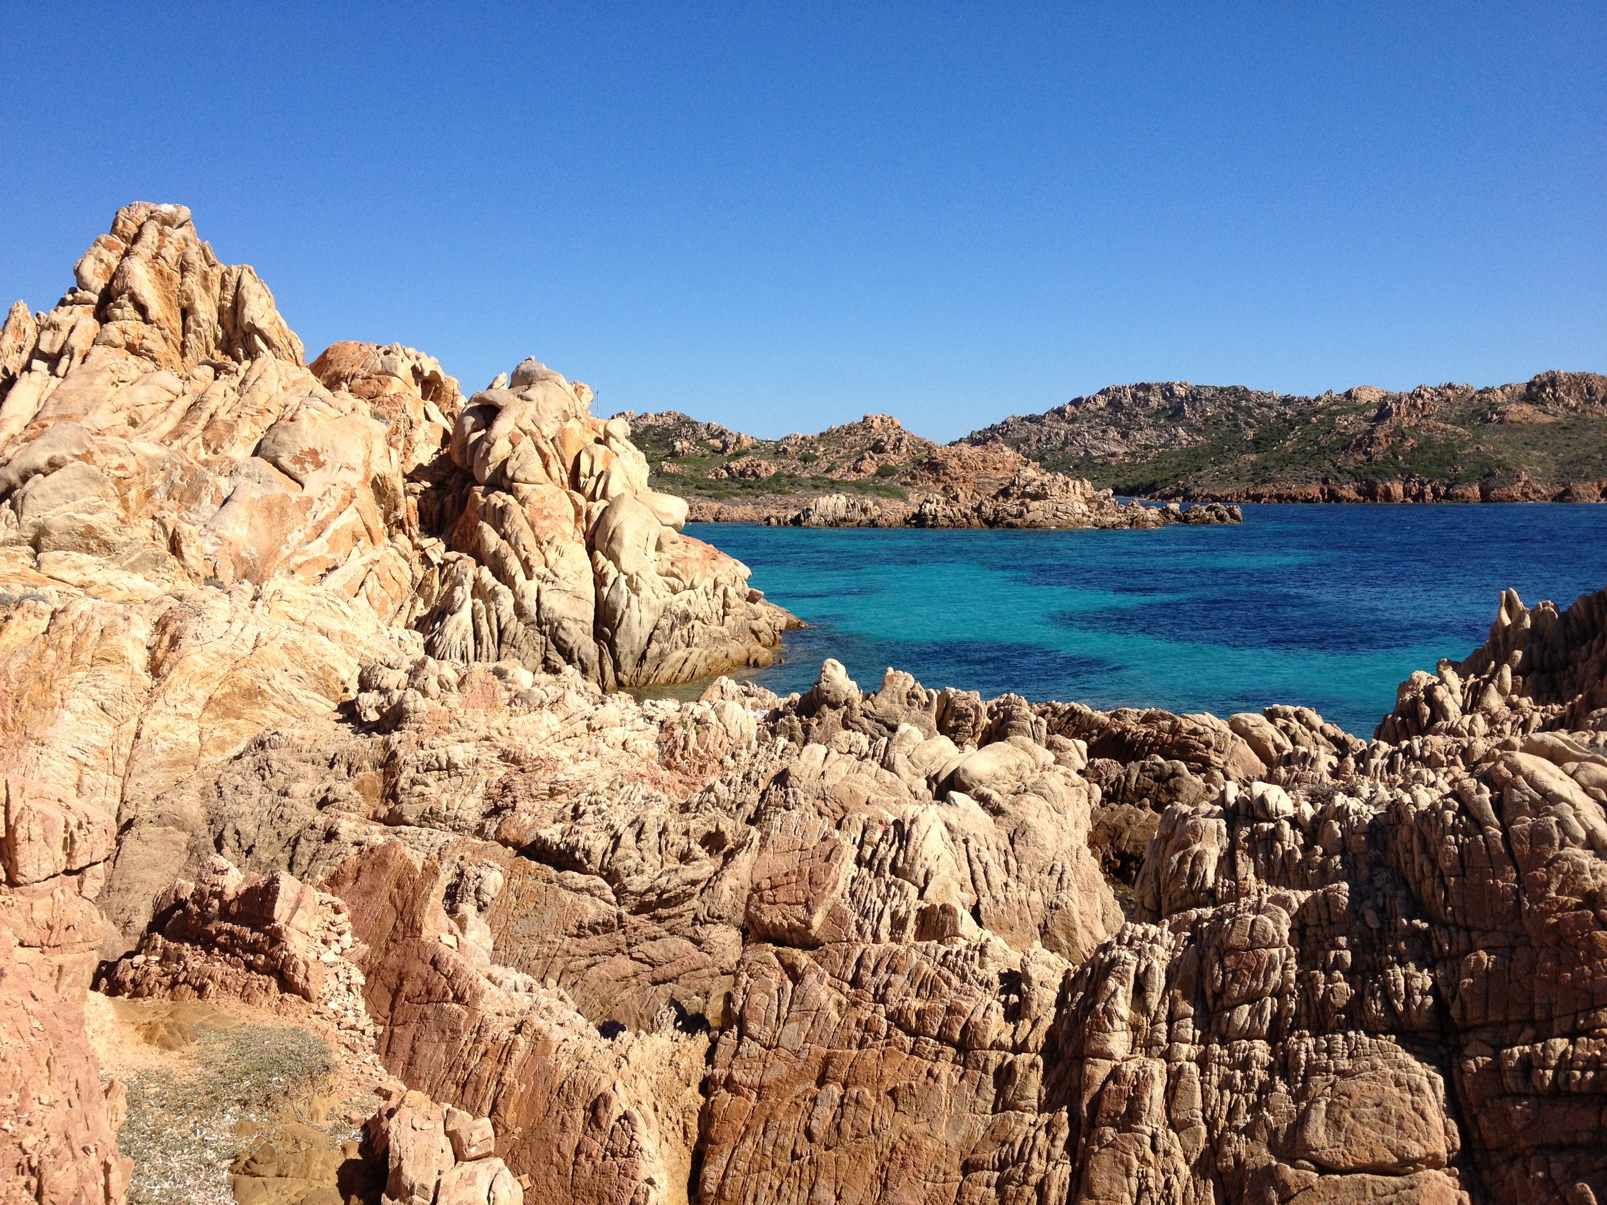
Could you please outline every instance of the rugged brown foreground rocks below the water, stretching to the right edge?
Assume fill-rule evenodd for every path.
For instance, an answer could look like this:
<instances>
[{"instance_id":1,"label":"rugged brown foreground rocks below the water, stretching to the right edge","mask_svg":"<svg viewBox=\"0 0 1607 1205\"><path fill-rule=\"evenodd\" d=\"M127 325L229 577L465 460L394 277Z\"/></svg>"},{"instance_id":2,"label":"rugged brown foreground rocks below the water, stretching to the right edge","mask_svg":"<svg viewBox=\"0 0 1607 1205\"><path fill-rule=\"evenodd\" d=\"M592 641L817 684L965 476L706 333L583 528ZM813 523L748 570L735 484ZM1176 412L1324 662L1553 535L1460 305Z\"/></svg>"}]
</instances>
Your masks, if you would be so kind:
<instances>
[{"instance_id":1,"label":"rugged brown foreground rocks below the water, stretching to the right edge","mask_svg":"<svg viewBox=\"0 0 1607 1205\"><path fill-rule=\"evenodd\" d=\"M355 725L188 787L196 848L344 903L386 1067L537 1195L1572 1203L1604 607L1506 596L1371 742L834 662L691 704L373 665Z\"/></svg>"}]
</instances>

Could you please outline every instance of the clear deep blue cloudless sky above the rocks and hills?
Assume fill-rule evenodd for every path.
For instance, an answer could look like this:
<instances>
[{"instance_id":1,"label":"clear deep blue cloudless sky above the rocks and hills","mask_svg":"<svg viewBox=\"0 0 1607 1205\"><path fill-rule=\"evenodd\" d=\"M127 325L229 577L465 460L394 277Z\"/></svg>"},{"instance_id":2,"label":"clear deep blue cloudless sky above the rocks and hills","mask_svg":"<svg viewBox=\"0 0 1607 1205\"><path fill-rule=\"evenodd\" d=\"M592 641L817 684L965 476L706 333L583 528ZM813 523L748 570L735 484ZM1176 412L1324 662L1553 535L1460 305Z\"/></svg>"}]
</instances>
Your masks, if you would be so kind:
<instances>
[{"instance_id":1,"label":"clear deep blue cloudless sky above the rocks and hills","mask_svg":"<svg viewBox=\"0 0 1607 1205\"><path fill-rule=\"evenodd\" d=\"M13 5L0 304L194 210L309 353L953 439L1607 371L1607 8Z\"/></svg>"}]
</instances>

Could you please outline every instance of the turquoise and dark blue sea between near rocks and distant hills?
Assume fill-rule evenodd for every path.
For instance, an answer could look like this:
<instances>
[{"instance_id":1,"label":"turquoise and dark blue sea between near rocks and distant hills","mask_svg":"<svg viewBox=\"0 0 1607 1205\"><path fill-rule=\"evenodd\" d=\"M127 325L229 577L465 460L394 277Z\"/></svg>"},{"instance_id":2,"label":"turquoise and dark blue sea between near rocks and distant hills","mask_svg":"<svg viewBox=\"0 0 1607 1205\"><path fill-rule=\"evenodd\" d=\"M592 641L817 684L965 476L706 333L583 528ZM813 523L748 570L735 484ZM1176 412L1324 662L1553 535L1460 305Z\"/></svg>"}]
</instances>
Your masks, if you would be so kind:
<instances>
[{"instance_id":1,"label":"turquoise and dark blue sea between near rocks and distant hills","mask_svg":"<svg viewBox=\"0 0 1607 1205\"><path fill-rule=\"evenodd\" d=\"M836 657L927 686L1229 715L1305 704L1361 736L1395 686L1483 643L1496 598L1607 585L1607 506L1245 506L1154 532L691 524L810 627L750 676L786 694Z\"/></svg>"}]
</instances>

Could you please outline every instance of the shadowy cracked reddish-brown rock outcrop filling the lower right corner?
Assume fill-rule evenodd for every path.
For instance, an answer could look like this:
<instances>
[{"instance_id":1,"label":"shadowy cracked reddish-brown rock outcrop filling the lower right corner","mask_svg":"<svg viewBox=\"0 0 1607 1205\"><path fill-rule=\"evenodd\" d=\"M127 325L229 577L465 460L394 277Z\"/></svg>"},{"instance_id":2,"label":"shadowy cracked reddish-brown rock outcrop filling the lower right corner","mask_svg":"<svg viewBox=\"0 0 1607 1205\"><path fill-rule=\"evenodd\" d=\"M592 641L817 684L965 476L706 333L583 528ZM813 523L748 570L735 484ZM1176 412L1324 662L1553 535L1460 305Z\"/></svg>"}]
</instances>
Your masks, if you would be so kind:
<instances>
[{"instance_id":1,"label":"shadowy cracked reddish-brown rock outcrop filling the lower right corner","mask_svg":"<svg viewBox=\"0 0 1607 1205\"><path fill-rule=\"evenodd\" d=\"M1599 1199L1607 745L1573 721L1604 601L1503 596L1483 649L1401 686L1398 744L1233 718L1289 789L1170 805L1136 922L1067 991L1082 1195Z\"/></svg>"}]
</instances>

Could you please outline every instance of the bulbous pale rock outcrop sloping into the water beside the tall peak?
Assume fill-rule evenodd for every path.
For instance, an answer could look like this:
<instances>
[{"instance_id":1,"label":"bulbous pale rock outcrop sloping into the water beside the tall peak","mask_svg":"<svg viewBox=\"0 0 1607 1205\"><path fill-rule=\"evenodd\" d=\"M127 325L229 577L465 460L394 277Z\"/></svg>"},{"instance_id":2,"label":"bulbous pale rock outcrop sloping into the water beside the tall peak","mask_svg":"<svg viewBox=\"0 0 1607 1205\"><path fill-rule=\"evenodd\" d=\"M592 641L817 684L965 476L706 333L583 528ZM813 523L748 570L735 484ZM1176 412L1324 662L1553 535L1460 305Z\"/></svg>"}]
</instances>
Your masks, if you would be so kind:
<instances>
[{"instance_id":1,"label":"bulbous pale rock outcrop sloping into the water beside the tall peak","mask_svg":"<svg viewBox=\"0 0 1607 1205\"><path fill-rule=\"evenodd\" d=\"M458 472L423 513L448 533L419 588L426 649L577 665L607 688L768 664L795 620L749 590L746 566L680 533L686 503L648 488L630 426L590 402L525 360L458 415Z\"/></svg>"}]
</instances>

